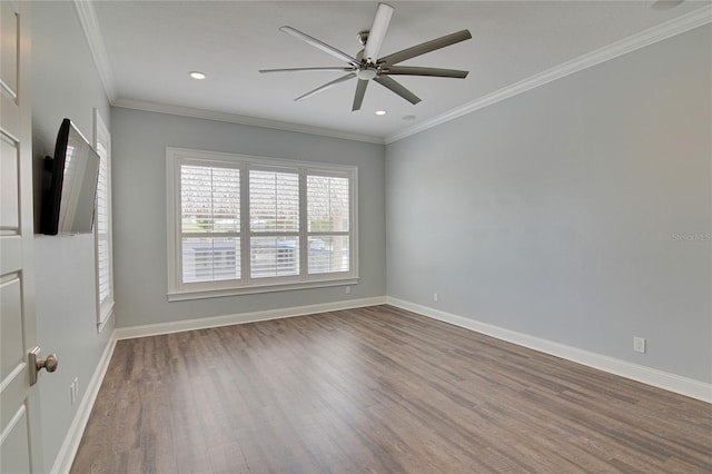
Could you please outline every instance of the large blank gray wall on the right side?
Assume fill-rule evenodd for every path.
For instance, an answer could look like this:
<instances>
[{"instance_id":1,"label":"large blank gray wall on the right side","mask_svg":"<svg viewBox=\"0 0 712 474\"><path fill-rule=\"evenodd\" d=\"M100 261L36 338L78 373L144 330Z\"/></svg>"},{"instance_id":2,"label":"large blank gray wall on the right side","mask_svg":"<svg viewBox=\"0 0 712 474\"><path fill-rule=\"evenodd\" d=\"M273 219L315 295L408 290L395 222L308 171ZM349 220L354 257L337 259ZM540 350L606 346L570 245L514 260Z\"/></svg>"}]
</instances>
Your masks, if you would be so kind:
<instances>
[{"instance_id":1,"label":"large blank gray wall on the right side","mask_svg":"<svg viewBox=\"0 0 712 474\"><path fill-rule=\"evenodd\" d=\"M712 382L710 45L705 26L388 145L388 296Z\"/></svg>"}]
</instances>

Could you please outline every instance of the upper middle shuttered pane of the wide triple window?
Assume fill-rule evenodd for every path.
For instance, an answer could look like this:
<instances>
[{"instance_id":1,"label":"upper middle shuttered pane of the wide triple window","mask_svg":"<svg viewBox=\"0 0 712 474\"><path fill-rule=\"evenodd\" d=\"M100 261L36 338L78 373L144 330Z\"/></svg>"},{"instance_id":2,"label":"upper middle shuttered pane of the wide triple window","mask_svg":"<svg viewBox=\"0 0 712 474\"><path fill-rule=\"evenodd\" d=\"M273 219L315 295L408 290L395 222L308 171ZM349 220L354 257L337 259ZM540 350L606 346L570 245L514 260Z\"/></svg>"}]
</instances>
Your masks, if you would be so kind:
<instances>
[{"instance_id":1,"label":"upper middle shuttered pane of the wide triple window","mask_svg":"<svg viewBox=\"0 0 712 474\"><path fill-rule=\"evenodd\" d=\"M256 233L299 230L299 175L249 172L249 226Z\"/></svg>"}]
</instances>

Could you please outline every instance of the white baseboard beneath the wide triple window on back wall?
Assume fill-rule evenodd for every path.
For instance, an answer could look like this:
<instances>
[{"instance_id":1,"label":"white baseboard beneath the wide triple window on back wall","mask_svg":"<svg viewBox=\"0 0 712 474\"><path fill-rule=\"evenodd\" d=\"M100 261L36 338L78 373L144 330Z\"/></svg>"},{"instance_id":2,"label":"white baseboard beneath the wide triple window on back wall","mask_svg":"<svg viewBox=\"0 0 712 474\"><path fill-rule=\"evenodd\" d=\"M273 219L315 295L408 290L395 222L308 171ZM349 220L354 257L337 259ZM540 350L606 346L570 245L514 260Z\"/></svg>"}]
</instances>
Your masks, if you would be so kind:
<instances>
[{"instance_id":1,"label":"white baseboard beneath the wide triple window on back wall","mask_svg":"<svg viewBox=\"0 0 712 474\"><path fill-rule=\"evenodd\" d=\"M170 323L148 324L144 326L120 327L116 329L116 338L118 340L134 339L136 337L158 336L161 334L181 333L184 330L207 329L209 327L231 326L234 324L256 323L260 320L281 319L286 317L305 316L316 313L384 305L385 303L385 296L376 296L372 298L348 299L344 302L322 303L317 305L267 309L253 313L204 317L198 319L176 320Z\"/></svg>"}]
</instances>

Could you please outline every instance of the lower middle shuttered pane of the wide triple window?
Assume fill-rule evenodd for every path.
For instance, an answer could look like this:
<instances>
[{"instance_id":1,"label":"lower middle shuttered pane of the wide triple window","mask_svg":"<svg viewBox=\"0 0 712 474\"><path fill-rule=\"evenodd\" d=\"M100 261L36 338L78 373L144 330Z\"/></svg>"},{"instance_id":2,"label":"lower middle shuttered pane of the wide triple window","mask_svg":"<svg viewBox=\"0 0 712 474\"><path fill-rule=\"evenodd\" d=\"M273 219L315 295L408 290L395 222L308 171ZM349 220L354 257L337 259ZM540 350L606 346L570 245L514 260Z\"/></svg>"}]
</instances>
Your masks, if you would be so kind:
<instances>
[{"instance_id":1,"label":"lower middle shuttered pane of the wide triple window","mask_svg":"<svg viewBox=\"0 0 712 474\"><path fill-rule=\"evenodd\" d=\"M299 275L299 238L297 236L253 237L250 243L253 278Z\"/></svg>"}]
</instances>

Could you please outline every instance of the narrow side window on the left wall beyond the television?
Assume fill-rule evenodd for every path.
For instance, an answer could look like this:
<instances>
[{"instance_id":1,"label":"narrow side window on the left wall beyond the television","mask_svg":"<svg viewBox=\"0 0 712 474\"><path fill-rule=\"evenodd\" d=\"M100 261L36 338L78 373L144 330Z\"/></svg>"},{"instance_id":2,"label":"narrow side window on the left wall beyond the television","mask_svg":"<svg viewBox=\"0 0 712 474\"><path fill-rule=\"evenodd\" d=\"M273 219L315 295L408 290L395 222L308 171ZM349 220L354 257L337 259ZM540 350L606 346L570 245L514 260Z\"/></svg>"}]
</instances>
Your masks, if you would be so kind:
<instances>
[{"instance_id":1,"label":"narrow side window on the left wall beyond the television","mask_svg":"<svg viewBox=\"0 0 712 474\"><path fill-rule=\"evenodd\" d=\"M97 328L99 332L113 314L113 263L111 248L111 136L93 109L95 149L99 155L99 182L95 214L97 273Z\"/></svg>"}]
</instances>

